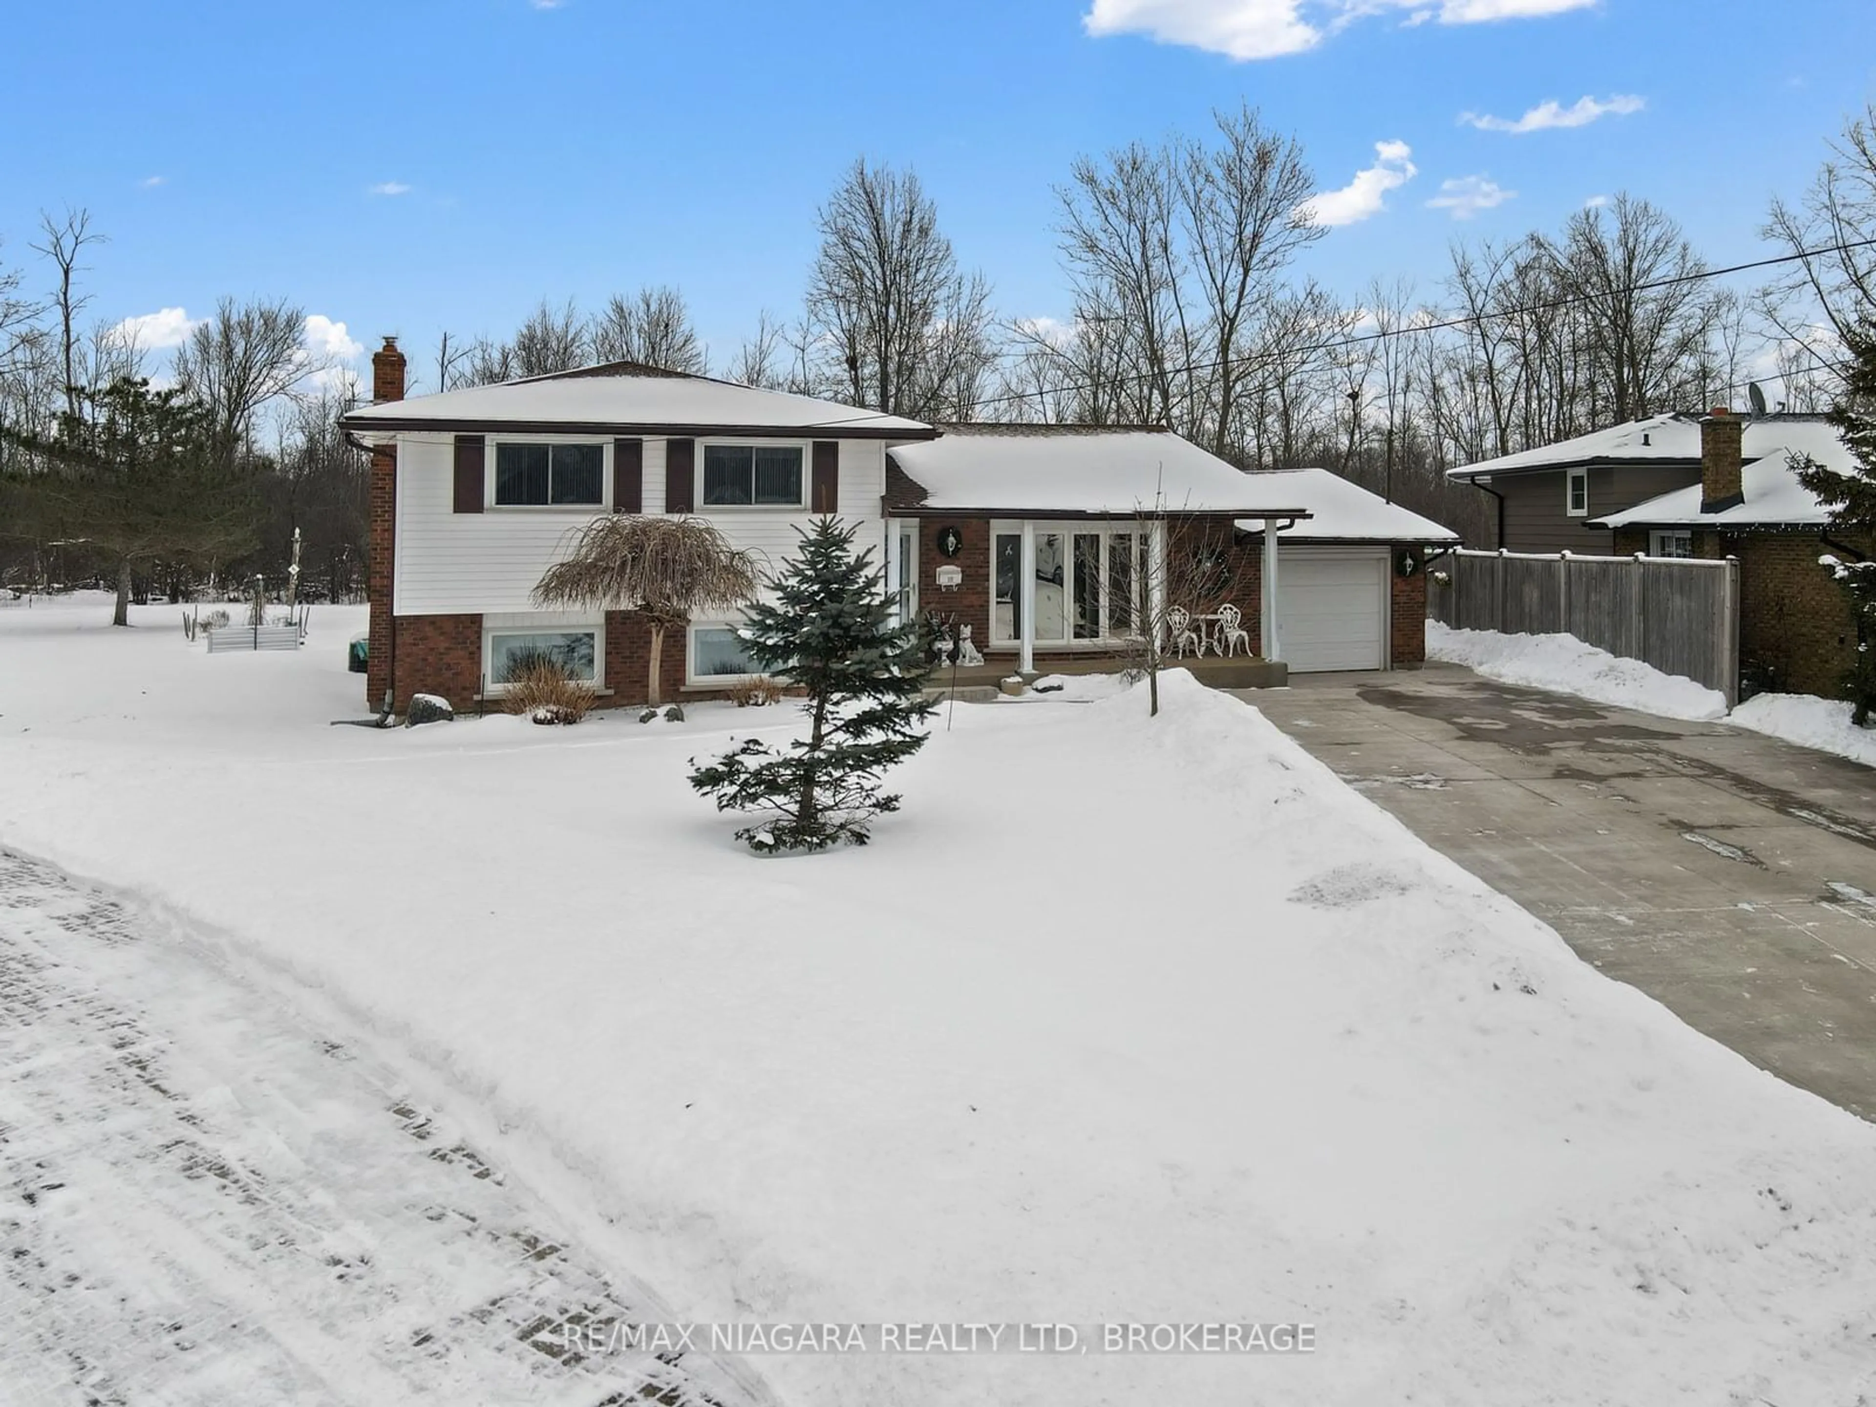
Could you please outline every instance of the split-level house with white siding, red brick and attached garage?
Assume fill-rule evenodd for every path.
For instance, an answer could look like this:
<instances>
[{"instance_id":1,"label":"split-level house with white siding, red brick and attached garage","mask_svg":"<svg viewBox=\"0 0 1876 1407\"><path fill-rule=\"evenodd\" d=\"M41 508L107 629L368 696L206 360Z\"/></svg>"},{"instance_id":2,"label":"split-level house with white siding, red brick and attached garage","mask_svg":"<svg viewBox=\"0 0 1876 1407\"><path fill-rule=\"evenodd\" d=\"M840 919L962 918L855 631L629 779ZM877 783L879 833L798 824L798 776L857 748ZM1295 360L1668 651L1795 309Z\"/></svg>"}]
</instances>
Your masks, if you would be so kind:
<instances>
[{"instance_id":1,"label":"split-level house with white siding, red brick and attached garage","mask_svg":"<svg viewBox=\"0 0 1876 1407\"><path fill-rule=\"evenodd\" d=\"M416 692L499 696L514 660L542 651L604 702L642 702L642 617L533 602L570 531L602 512L707 518L769 570L833 514L874 550L900 613L970 625L1011 668L1112 653L1129 593L1197 525L1223 527L1229 561L1221 600L1191 604L1233 598L1251 649L1279 658L1291 625L1313 668L1418 662L1424 593L1405 553L1452 540L1332 475L1246 475L1152 428L940 428L634 364L405 400L392 340L373 396L341 424L371 450L368 694L398 709ZM1338 522L1369 537L1326 537ZM709 696L745 677L735 625L668 632L666 687Z\"/></svg>"}]
</instances>

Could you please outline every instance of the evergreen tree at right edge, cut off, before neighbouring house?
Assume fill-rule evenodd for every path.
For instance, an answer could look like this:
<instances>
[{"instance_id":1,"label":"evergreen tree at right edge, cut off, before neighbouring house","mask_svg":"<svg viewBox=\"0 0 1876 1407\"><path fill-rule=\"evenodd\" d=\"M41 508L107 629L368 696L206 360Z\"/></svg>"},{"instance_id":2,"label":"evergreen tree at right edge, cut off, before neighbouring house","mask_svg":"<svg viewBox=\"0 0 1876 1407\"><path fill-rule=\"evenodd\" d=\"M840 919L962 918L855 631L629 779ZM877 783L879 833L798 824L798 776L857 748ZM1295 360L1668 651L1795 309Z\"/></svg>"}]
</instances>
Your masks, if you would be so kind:
<instances>
[{"instance_id":1,"label":"evergreen tree at right edge, cut off, before neighbouring house","mask_svg":"<svg viewBox=\"0 0 1876 1407\"><path fill-rule=\"evenodd\" d=\"M1848 330L1850 371L1844 390L1831 407L1829 420L1850 446L1855 473L1838 475L1816 460L1795 460L1797 482L1831 510L1831 535L1861 540L1876 550L1876 323ZM1844 679L1853 707L1852 719L1867 728L1876 713L1876 561L1846 563L1823 557L1844 589L1857 628L1857 647Z\"/></svg>"}]
</instances>

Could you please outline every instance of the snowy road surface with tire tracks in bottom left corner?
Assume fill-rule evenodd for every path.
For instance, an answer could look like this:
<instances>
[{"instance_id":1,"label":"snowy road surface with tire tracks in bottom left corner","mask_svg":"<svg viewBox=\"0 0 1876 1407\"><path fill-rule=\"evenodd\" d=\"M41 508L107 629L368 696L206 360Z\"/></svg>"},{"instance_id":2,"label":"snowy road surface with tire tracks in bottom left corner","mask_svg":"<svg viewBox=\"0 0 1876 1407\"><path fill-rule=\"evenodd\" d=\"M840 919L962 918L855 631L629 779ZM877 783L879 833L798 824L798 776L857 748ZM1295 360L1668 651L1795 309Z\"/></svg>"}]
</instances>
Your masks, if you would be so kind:
<instances>
[{"instance_id":1,"label":"snowy road surface with tire tracks in bottom left corner","mask_svg":"<svg viewBox=\"0 0 1876 1407\"><path fill-rule=\"evenodd\" d=\"M745 1407L386 1071L0 850L0 1383L26 1401Z\"/></svg>"}]
</instances>

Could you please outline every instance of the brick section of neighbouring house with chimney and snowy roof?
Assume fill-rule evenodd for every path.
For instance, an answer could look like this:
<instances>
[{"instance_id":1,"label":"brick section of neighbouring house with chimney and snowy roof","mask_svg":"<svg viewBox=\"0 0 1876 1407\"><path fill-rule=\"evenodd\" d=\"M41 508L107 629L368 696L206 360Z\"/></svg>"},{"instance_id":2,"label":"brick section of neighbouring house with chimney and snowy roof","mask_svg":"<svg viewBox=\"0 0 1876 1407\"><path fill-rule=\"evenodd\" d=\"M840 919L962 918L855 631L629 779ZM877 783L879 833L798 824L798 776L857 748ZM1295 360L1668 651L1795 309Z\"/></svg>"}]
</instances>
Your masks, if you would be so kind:
<instances>
[{"instance_id":1,"label":"brick section of neighbouring house with chimney and snowy roof","mask_svg":"<svg viewBox=\"0 0 1876 1407\"><path fill-rule=\"evenodd\" d=\"M1840 538L1829 510L1792 471L1805 456L1853 473L1850 450L1816 416L1745 420L1717 409L1698 422L1698 478L1593 527L1617 552L1739 559L1739 672L1745 692L1842 696L1855 623L1842 589L1818 559L1865 561L1876 538Z\"/></svg>"}]
</instances>

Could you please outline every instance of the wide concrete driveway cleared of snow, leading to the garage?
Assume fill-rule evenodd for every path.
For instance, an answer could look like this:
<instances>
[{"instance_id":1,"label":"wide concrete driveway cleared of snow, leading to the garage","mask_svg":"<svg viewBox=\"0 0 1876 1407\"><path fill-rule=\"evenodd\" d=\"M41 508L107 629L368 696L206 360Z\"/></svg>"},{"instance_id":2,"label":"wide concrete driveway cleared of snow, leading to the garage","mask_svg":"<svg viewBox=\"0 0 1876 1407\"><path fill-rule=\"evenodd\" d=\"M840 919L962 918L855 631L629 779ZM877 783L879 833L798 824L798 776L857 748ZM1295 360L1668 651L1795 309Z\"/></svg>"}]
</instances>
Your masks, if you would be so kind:
<instances>
[{"instance_id":1,"label":"wide concrete driveway cleared of snow, leading to the garage","mask_svg":"<svg viewBox=\"0 0 1876 1407\"><path fill-rule=\"evenodd\" d=\"M1583 959L1876 1118L1876 771L1452 664L1246 692Z\"/></svg>"}]
</instances>

